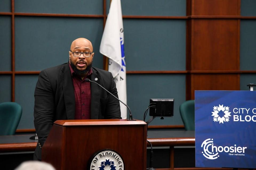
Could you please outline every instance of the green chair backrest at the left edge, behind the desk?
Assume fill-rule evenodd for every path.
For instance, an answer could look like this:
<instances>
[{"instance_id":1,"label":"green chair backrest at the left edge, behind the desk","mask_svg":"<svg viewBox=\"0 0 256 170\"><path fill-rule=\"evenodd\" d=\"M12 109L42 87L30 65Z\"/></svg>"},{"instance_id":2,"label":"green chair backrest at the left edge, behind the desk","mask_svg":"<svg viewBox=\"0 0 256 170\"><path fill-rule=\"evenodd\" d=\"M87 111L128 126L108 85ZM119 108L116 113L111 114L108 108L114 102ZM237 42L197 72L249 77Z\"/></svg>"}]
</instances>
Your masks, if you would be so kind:
<instances>
[{"instance_id":1,"label":"green chair backrest at the left edge, behind the desk","mask_svg":"<svg viewBox=\"0 0 256 170\"><path fill-rule=\"evenodd\" d=\"M22 107L15 102L0 104L0 135L14 135L21 120Z\"/></svg>"}]
</instances>

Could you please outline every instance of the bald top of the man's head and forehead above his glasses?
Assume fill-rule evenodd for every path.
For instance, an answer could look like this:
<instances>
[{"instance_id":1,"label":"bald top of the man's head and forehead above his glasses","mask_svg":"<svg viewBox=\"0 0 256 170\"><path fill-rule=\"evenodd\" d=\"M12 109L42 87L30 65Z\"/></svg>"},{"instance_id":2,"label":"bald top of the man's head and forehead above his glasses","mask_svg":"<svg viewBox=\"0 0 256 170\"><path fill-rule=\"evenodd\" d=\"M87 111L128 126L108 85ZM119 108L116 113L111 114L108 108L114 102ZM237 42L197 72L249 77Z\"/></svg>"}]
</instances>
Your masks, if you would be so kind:
<instances>
[{"instance_id":1,"label":"bald top of the man's head and forehead above his glasses","mask_svg":"<svg viewBox=\"0 0 256 170\"><path fill-rule=\"evenodd\" d=\"M93 45L91 44L91 41L86 38L78 38L75 39L70 46L71 51L74 51L75 49L90 50L90 52L93 52Z\"/></svg>"}]
</instances>

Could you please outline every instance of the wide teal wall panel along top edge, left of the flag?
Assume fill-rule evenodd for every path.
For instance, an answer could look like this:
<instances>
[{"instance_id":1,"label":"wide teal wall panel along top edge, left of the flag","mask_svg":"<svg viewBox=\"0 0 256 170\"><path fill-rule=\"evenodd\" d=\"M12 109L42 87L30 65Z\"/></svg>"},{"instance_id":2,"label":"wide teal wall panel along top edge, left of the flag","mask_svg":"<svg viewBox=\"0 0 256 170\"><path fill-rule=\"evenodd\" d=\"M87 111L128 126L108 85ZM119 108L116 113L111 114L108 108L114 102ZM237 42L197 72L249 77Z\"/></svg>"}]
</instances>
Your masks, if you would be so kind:
<instances>
[{"instance_id":1,"label":"wide teal wall panel along top edge, left of the flag","mask_svg":"<svg viewBox=\"0 0 256 170\"><path fill-rule=\"evenodd\" d=\"M102 0L15 0L15 12L53 14L103 14Z\"/></svg>"}]
</instances>

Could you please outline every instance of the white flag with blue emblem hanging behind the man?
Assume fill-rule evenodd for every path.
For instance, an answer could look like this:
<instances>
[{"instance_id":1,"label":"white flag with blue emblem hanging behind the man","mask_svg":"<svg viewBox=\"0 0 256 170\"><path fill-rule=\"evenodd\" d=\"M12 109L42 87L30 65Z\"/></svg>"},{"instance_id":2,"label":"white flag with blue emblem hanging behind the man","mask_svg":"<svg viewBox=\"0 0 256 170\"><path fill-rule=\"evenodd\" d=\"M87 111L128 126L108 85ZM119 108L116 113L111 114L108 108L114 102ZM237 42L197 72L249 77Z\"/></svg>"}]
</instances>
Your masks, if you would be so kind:
<instances>
[{"instance_id":1,"label":"white flag with blue emblem hanging behind the man","mask_svg":"<svg viewBox=\"0 0 256 170\"><path fill-rule=\"evenodd\" d=\"M111 1L99 52L109 58L109 71L112 73L115 79L118 97L126 104L126 66L120 0ZM126 119L126 106L120 102L120 108L121 117Z\"/></svg>"}]
</instances>

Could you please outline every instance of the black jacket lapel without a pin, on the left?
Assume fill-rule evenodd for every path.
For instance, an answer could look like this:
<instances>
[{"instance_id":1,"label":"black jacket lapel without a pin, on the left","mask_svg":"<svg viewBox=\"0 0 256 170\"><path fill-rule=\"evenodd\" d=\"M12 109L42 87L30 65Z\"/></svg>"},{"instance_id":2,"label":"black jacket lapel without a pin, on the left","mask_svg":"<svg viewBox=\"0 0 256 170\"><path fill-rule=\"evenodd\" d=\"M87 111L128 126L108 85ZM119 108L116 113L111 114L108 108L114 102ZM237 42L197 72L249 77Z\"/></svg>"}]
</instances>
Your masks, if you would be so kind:
<instances>
[{"instance_id":1,"label":"black jacket lapel without a pin, on the left","mask_svg":"<svg viewBox=\"0 0 256 170\"><path fill-rule=\"evenodd\" d=\"M68 63L62 68L62 74L60 76L63 87L67 119L73 120L75 118L75 94L73 80Z\"/></svg>"}]
</instances>

